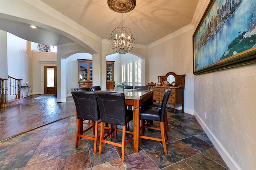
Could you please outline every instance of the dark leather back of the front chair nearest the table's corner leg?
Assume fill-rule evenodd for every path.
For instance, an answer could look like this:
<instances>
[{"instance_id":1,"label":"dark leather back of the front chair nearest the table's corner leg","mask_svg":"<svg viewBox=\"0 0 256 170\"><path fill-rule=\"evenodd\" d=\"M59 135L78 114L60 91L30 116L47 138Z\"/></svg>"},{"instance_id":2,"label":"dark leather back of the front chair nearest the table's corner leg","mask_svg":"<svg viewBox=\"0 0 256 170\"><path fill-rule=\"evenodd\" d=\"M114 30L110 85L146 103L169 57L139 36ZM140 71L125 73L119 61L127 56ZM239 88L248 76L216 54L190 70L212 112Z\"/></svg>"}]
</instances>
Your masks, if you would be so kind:
<instances>
[{"instance_id":1,"label":"dark leather back of the front chair nearest the table's corner leg","mask_svg":"<svg viewBox=\"0 0 256 170\"><path fill-rule=\"evenodd\" d=\"M101 121L115 125L126 125L124 93L95 92Z\"/></svg>"}]
</instances>

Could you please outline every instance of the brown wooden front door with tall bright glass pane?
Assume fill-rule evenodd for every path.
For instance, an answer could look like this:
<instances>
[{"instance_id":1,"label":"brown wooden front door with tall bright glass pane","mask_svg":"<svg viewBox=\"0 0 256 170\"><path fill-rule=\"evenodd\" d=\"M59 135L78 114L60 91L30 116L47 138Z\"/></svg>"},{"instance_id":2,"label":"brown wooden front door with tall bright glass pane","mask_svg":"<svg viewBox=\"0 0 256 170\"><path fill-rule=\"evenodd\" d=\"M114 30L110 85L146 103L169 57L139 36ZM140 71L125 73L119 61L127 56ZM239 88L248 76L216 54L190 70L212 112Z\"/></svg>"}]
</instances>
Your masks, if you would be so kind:
<instances>
[{"instance_id":1,"label":"brown wooden front door with tall bright glass pane","mask_svg":"<svg viewBox=\"0 0 256 170\"><path fill-rule=\"evenodd\" d=\"M56 66L44 66L44 94L57 93Z\"/></svg>"}]
</instances>

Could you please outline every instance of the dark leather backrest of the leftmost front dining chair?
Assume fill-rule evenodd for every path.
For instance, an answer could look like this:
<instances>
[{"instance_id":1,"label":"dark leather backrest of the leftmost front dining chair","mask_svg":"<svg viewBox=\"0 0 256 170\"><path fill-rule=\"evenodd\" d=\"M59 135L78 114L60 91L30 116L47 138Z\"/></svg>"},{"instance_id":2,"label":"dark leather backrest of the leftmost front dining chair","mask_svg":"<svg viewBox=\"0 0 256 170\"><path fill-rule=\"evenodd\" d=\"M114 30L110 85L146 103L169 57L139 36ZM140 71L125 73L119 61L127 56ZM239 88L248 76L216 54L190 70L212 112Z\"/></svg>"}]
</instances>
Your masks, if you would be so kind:
<instances>
[{"instance_id":1,"label":"dark leather backrest of the leftmost front dining chair","mask_svg":"<svg viewBox=\"0 0 256 170\"><path fill-rule=\"evenodd\" d=\"M76 105L76 118L98 121L100 113L98 111L97 100L94 92L90 91L72 91L71 92Z\"/></svg>"}]
</instances>

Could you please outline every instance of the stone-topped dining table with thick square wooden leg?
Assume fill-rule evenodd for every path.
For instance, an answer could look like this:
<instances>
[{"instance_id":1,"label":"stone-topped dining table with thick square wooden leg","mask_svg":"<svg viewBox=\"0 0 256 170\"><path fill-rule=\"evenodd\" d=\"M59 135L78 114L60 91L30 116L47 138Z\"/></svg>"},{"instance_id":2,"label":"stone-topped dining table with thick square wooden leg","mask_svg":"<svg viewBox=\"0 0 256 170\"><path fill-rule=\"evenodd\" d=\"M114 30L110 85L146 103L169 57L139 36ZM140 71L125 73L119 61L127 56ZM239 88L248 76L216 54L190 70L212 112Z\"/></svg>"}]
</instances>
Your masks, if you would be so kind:
<instances>
[{"instance_id":1,"label":"stone-topped dining table with thick square wooden leg","mask_svg":"<svg viewBox=\"0 0 256 170\"><path fill-rule=\"evenodd\" d=\"M116 92L114 89L100 90ZM153 98L154 90L124 89L125 104L133 106L133 150L139 152L140 106L143 102ZM152 99L153 100L153 99Z\"/></svg>"}]
</instances>

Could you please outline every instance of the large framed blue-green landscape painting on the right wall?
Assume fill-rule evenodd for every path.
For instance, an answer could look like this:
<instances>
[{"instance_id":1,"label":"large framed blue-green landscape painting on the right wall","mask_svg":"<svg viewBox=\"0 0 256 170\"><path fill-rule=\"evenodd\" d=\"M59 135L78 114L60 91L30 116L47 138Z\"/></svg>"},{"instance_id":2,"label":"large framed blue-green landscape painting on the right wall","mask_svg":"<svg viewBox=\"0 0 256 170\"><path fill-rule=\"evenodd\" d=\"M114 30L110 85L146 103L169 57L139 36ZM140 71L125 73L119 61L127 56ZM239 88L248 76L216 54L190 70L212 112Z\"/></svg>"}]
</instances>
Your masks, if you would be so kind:
<instances>
[{"instance_id":1,"label":"large framed blue-green landscape painting on the right wall","mask_svg":"<svg viewBox=\"0 0 256 170\"><path fill-rule=\"evenodd\" d=\"M256 63L256 0L211 0L193 34L193 73Z\"/></svg>"}]
</instances>

